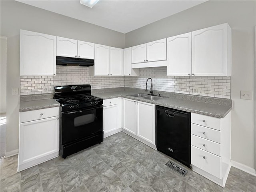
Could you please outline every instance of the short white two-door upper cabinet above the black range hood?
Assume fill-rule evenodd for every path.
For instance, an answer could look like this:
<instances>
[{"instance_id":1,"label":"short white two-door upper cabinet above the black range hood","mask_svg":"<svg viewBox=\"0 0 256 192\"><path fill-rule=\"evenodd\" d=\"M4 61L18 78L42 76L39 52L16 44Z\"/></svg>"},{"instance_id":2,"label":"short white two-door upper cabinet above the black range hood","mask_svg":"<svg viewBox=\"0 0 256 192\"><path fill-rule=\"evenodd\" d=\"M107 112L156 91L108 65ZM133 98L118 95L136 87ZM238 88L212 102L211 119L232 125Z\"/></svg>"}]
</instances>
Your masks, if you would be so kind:
<instances>
[{"instance_id":1,"label":"short white two-door upper cabinet above the black range hood","mask_svg":"<svg viewBox=\"0 0 256 192\"><path fill-rule=\"evenodd\" d=\"M57 56L94 59L94 43L57 37L56 46Z\"/></svg>"}]
</instances>

